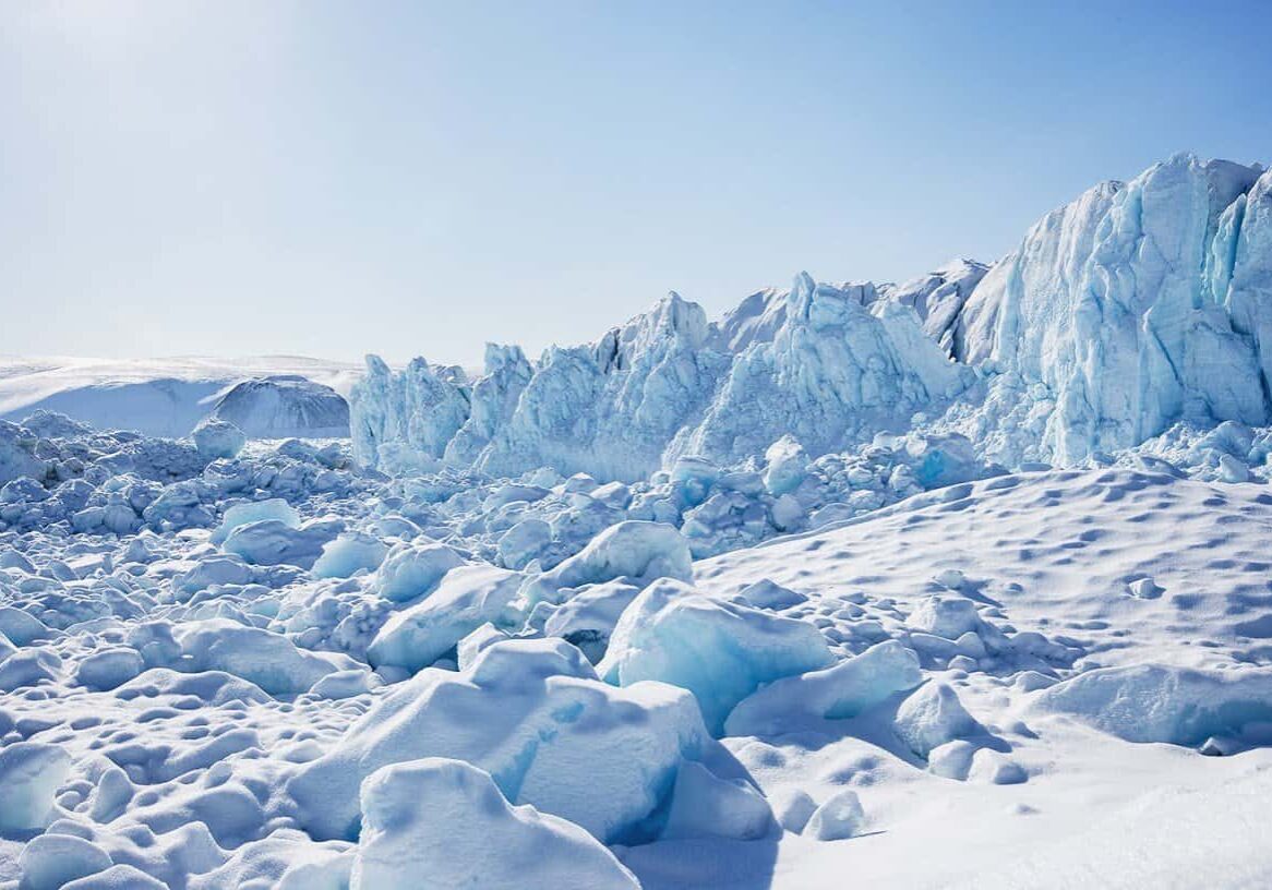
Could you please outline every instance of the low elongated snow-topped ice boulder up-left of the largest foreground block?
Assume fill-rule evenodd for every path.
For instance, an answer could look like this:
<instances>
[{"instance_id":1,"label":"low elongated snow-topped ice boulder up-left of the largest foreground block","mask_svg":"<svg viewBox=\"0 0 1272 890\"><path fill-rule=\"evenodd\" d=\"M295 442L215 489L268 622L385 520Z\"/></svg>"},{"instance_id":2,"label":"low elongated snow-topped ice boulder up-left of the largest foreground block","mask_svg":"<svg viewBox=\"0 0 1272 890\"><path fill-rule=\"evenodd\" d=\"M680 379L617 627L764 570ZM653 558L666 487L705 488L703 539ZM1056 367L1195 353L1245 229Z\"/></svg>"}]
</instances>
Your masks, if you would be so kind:
<instances>
[{"instance_id":1,"label":"low elongated snow-topped ice boulder up-left of the largest foreground block","mask_svg":"<svg viewBox=\"0 0 1272 890\"><path fill-rule=\"evenodd\" d=\"M347 656L319 656L296 648L287 637L229 618L190 622L177 638L193 670L220 670L254 683L271 695L296 695L336 670L356 664Z\"/></svg>"}]
</instances>

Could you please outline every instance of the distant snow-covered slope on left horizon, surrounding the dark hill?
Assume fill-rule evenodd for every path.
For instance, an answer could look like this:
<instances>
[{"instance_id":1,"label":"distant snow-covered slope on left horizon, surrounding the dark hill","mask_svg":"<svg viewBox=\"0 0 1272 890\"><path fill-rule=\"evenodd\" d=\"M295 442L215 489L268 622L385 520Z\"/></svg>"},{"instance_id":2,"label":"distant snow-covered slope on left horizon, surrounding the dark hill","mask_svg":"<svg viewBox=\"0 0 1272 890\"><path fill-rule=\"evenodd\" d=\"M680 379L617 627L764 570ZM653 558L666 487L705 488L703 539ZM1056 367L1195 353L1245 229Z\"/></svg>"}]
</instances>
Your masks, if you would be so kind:
<instances>
[{"instance_id":1,"label":"distant snow-covered slope on left horizon, surrounding the dark hill","mask_svg":"<svg viewBox=\"0 0 1272 890\"><path fill-rule=\"evenodd\" d=\"M299 375L345 395L357 374L356 365L299 356L135 360L0 356L0 420L20 421L43 408L100 428L184 436L212 412L218 399L247 379ZM237 398L232 413L244 417L245 412L244 400ZM295 435L303 427L287 425L304 420L304 413L289 420L284 409L276 420L261 418L265 423L261 431L244 431L259 436L277 427L284 430L282 435ZM341 425L332 422L329 413L319 412L317 420L326 432L308 435L347 435L333 432Z\"/></svg>"}]
</instances>

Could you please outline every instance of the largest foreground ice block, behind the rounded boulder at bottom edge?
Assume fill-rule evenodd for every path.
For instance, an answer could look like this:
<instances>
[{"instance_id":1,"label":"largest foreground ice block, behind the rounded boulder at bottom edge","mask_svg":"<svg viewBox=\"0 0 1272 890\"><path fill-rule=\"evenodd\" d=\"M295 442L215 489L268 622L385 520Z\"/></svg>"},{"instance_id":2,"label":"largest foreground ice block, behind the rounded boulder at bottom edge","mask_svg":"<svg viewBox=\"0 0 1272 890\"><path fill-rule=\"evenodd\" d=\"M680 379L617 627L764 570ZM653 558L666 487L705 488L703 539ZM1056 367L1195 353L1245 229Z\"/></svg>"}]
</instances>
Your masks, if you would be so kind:
<instances>
[{"instance_id":1,"label":"largest foreground ice block, behind the rounded boulder at bottom edge","mask_svg":"<svg viewBox=\"0 0 1272 890\"><path fill-rule=\"evenodd\" d=\"M394 763L457 758L488 772L513 804L612 843L646 833L681 763L707 744L683 689L616 689L561 640L508 640L458 674L430 669L394 687L287 792L312 835L354 839L363 779Z\"/></svg>"}]
</instances>

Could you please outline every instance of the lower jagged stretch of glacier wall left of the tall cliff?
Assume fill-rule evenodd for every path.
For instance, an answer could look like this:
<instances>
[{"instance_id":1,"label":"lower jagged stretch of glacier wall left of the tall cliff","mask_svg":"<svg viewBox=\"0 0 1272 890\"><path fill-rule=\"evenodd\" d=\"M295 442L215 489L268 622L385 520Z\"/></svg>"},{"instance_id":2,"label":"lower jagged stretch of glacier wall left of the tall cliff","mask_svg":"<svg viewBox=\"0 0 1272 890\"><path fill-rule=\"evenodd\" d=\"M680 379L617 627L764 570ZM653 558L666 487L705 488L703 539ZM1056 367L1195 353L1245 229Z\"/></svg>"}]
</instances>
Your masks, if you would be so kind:
<instances>
[{"instance_id":1,"label":"lower jagged stretch of glacier wall left of the tall cliff","mask_svg":"<svg viewBox=\"0 0 1272 890\"><path fill-rule=\"evenodd\" d=\"M748 299L720 323L672 294L584 346L533 365L491 346L468 384L416 360L368 360L354 388L354 451L388 472L538 467L635 481L675 458L734 463L794 434L810 454L904 431L912 414L972 380L913 308L870 284L817 284Z\"/></svg>"}]
</instances>

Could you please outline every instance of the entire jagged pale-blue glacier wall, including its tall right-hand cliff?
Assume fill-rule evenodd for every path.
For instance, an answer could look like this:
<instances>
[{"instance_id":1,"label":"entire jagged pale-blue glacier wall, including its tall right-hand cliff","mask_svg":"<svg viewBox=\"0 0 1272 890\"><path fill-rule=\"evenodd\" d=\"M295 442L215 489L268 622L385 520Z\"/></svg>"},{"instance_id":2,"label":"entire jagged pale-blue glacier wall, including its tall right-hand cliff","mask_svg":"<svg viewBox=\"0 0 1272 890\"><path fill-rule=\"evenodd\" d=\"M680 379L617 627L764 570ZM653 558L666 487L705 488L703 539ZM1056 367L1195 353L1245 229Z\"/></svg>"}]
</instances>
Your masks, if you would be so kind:
<instances>
[{"instance_id":1,"label":"entire jagged pale-blue glacier wall, including its tall right-hand cliff","mask_svg":"<svg viewBox=\"0 0 1272 890\"><path fill-rule=\"evenodd\" d=\"M633 481L794 436L962 432L1007 464L1080 463L1184 421L1272 416L1272 173L1178 155L1047 214L992 267L748 296L717 322L672 294L593 343L485 374L371 357L354 450L388 472L538 467Z\"/></svg>"}]
</instances>

